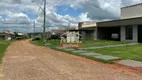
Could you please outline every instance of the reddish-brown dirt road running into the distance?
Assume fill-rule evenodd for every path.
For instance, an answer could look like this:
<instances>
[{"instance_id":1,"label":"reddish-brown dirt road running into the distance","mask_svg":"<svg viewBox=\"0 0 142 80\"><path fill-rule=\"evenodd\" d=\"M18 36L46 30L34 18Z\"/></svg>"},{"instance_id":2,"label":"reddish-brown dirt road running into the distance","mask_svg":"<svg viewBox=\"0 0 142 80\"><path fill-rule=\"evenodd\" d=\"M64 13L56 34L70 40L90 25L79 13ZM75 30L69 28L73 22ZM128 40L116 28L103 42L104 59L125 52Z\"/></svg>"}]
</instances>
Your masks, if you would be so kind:
<instances>
[{"instance_id":1,"label":"reddish-brown dirt road running into the distance","mask_svg":"<svg viewBox=\"0 0 142 80\"><path fill-rule=\"evenodd\" d=\"M11 44L2 65L2 80L142 80L141 74L34 46L28 41Z\"/></svg>"}]
</instances>

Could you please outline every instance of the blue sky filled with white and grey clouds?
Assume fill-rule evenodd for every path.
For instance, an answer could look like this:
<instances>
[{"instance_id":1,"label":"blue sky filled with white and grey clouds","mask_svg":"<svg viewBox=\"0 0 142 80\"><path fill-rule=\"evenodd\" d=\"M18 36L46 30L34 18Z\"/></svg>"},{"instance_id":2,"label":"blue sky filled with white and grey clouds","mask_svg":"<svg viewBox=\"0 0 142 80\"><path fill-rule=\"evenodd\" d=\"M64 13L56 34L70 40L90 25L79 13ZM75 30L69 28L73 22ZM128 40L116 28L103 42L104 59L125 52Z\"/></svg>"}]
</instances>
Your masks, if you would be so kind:
<instances>
[{"instance_id":1,"label":"blue sky filled with white and grey clouds","mask_svg":"<svg viewBox=\"0 0 142 80\"><path fill-rule=\"evenodd\" d=\"M120 8L142 0L47 0L47 30L77 26L83 21L120 19ZM40 8L39 8L40 6ZM0 0L0 31L33 32L43 27L43 0Z\"/></svg>"}]
</instances>

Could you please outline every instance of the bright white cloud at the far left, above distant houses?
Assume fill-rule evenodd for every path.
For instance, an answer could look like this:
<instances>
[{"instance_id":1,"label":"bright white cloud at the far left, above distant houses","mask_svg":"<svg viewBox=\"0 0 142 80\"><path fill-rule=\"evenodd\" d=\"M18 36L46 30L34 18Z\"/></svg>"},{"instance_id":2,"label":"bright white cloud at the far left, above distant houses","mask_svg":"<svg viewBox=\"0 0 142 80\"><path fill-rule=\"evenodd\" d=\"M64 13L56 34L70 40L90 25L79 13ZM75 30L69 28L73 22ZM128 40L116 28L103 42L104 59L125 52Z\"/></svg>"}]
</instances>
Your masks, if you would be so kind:
<instances>
[{"instance_id":1,"label":"bright white cloud at the far left, above distant houses","mask_svg":"<svg viewBox=\"0 0 142 80\"><path fill-rule=\"evenodd\" d=\"M20 32L29 32L33 30L32 20L24 13L8 12L6 18L0 18L0 30L10 29Z\"/></svg>"}]
</instances>

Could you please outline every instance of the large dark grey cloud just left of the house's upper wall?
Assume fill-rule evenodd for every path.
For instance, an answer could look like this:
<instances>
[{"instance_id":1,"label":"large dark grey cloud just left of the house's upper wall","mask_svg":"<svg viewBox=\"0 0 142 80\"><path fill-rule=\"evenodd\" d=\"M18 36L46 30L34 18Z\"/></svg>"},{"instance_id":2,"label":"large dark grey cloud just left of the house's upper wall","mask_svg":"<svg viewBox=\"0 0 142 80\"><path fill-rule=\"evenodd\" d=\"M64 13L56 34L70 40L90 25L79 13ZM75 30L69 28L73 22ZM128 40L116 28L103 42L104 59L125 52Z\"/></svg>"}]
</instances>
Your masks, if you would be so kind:
<instances>
[{"instance_id":1,"label":"large dark grey cloud just left of the house's upper wall","mask_svg":"<svg viewBox=\"0 0 142 80\"><path fill-rule=\"evenodd\" d=\"M84 0L79 7L88 12L88 17L95 21L118 19L120 17L120 0ZM72 5L78 7L78 5Z\"/></svg>"}]
</instances>

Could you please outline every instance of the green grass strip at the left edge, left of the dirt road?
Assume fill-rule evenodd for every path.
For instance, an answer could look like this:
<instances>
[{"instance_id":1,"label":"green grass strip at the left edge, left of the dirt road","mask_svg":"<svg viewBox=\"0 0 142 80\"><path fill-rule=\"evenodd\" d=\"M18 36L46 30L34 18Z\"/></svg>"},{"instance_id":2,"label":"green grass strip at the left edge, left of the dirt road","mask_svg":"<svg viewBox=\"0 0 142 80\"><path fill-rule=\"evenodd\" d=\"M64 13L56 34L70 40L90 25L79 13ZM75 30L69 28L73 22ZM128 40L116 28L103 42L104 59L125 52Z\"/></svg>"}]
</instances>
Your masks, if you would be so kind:
<instances>
[{"instance_id":1,"label":"green grass strip at the left edge, left of the dirt road","mask_svg":"<svg viewBox=\"0 0 142 80\"><path fill-rule=\"evenodd\" d=\"M0 40L0 63L2 62L2 58L5 54L5 51L7 47L12 43L13 41L3 41Z\"/></svg>"}]
</instances>

